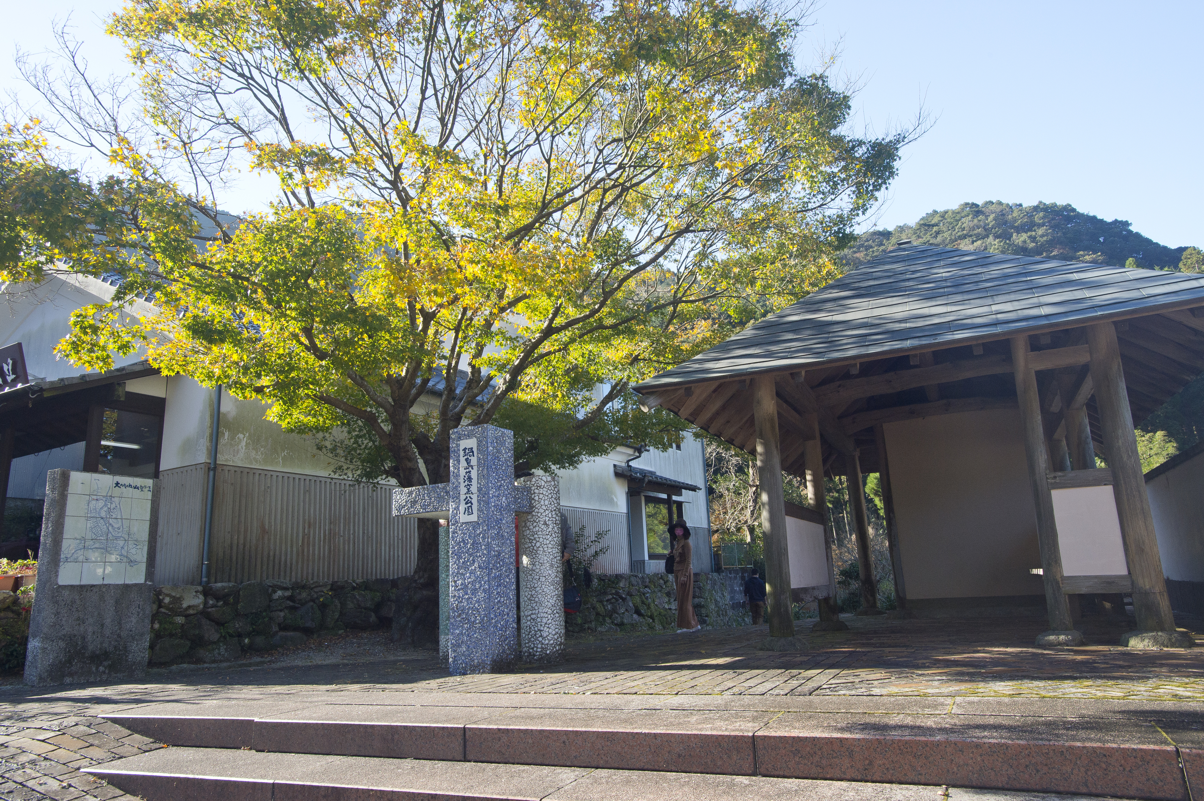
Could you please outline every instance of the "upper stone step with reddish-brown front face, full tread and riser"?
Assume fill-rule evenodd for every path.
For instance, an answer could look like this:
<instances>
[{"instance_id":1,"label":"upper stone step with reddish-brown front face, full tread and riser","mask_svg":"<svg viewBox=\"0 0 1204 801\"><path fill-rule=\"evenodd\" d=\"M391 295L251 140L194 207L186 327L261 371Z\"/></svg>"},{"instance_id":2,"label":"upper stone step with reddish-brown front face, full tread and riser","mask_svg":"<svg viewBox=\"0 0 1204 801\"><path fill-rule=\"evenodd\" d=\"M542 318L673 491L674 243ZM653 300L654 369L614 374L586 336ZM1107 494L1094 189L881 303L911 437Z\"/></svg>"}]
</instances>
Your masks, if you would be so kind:
<instances>
[{"instance_id":1,"label":"upper stone step with reddish-brown front face, full tread and riser","mask_svg":"<svg viewBox=\"0 0 1204 801\"><path fill-rule=\"evenodd\" d=\"M948 705L948 702L946 702ZM1204 787L1192 719L524 708L158 705L105 716L181 747L441 764L708 773L1186 801ZM1193 734L1194 732L1194 734ZM217 753L217 752L213 752ZM1180 763L1182 760L1182 764Z\"/></svg>"}]
</instances>

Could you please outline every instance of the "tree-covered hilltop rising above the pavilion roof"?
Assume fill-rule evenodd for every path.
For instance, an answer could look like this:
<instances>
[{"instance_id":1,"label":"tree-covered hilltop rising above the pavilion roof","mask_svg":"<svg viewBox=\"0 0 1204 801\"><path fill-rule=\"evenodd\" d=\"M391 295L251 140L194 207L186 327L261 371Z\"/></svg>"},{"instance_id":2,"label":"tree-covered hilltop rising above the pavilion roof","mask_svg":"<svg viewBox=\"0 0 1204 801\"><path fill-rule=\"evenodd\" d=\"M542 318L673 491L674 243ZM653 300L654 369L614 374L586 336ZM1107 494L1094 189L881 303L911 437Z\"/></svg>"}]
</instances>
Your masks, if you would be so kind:
<instances>
[{"instance_id":1,"label":"tree-covered hilltop rising above the pavilion roof","mask_svg":"<svg viewBox=\"0 0 1204 801\"><path fill-rule=\"evenodd\" d=\"M1187 250L1186 247L1168 248L1141 236L1128 220L1104 220L1069 203L1021 206L990 201L929 212L915 225L869 231L845 251L846 261L851 266L861 265L901 239L1100 265L1123 266L1132 259L1135 263L1131 267L1150 269L1179 269Z\"/></svg>"}]
</instances>

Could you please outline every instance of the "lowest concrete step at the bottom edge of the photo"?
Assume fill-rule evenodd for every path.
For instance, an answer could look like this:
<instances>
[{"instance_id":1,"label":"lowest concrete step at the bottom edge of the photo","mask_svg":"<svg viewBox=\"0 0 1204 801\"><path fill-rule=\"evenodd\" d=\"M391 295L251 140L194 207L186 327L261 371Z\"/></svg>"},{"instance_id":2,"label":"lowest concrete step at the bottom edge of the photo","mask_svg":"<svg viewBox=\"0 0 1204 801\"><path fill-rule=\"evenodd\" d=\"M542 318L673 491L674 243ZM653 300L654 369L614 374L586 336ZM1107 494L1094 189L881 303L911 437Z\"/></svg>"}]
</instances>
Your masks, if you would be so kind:
<instances>
[{"instance_id":1,"label":"lowest concrete step at the bottom edge of the photo","mask_svg":"<svg viewBox=\"0 0 1204 801\"><path fill-rule=\"evenodd\" d=\"M986 801L939 787L209 748L164 748L88 772L147 801Z\"/></svg>"}]
</instances>

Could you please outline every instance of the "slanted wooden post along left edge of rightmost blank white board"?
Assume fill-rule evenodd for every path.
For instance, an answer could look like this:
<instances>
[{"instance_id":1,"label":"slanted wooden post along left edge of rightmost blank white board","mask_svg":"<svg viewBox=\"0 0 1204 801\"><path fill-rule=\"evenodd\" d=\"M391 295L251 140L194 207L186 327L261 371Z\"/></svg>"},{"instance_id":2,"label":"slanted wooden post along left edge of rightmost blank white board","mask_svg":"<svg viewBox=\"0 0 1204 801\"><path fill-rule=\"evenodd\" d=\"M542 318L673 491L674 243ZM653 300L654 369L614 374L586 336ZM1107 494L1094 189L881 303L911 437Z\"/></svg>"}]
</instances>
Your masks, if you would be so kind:
<instances>
[{"instance_id":1,"label":"slanted wooden post along left edge of rightmost blank white board","mask_svg":"<svg viewBox=\"0 0 1204 801\"><path fill-rule=\"evenodd\" d=\"M1037 392L1037 374L1028 366L1028 337L1011 338L1011 369L1016 379L1016 400L1025 435L1025 456L1028 457L1028 482L1037 508L1037 542L1041 551L1041 572L1045 583L1045 609L1051 631L1070 631L1070 604L1062 594L1062 551L1054 520L1054 497L1046 474L1045 431L1041 425L1041 404ZM1044 635L1041 635L1044 636ZM1041 637L1038 637L1038 643Z\"/></svg>"}]
</instances>

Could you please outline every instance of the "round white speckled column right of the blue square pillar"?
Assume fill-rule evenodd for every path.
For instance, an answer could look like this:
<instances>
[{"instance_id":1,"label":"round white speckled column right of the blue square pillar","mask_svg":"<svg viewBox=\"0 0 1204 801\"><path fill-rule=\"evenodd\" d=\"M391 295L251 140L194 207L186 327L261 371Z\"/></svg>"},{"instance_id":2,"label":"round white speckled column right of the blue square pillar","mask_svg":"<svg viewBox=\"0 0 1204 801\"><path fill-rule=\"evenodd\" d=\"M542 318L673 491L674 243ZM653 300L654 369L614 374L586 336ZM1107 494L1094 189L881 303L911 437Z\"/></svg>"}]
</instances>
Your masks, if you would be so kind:
<instances>
[{"instance_id":1,"label":"round white speckled column right of the blue square pillar","mask_svg":"<svg viewBox=\"0 0 1204 801\"><path fill-rule=\"evenodd\" d=\"M520 483L531 491L531 514L519 528L523 661L559 661L565 649L560 480L536 475Z\"/></svg>"}]
</instances>

